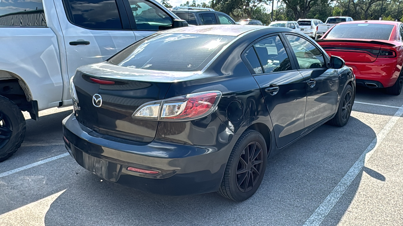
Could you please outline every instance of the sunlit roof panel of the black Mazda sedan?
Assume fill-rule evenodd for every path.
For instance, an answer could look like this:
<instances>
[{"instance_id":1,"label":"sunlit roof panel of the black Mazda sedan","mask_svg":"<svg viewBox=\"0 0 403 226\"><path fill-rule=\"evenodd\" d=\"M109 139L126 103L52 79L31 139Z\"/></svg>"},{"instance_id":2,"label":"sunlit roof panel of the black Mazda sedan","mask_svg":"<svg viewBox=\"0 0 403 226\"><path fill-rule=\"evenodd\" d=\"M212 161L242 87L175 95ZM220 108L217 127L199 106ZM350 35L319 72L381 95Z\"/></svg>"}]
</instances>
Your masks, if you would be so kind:
<instances>
[{"instance_id":1,"label":"sunlit roof panel of the black Mazda sedan","mask_svg":"<svg viewBox=\"0 0 403 226\"><path fill-rule=\"evenodd\" d=\"M160 33L184 33L184 34L204 34L204 35L228 35L239 36L245 32L256 29L270 29L267 26L259 25L202 25L192 27L179 27L169 29Z\"/></svg>"}]
</instances>

